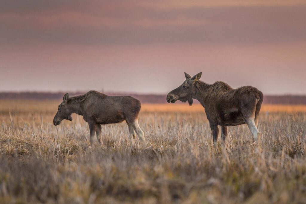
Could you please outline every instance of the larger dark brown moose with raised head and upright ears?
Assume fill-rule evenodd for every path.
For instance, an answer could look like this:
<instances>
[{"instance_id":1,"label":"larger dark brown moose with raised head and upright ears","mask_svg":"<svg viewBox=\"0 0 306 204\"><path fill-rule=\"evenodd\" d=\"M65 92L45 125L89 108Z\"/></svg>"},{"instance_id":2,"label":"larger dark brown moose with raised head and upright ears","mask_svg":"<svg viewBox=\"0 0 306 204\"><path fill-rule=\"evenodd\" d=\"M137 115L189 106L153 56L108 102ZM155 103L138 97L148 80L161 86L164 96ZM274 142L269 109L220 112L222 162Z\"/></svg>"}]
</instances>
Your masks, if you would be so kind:
<instances>
[{"instance_id":1,"label":"larger dark brown moose with raised head and upright ears","mask_svg":"<svg viewBox=\"0 0 306 204\"><path fill-rule=\"evenodd\" d=\"M227 126L241 124L247 124L253 138L257 140L260 134L257 124L263 93L251 86L233 89L222 81L207 84L200 81L201 75L202 72L191 77L185 72L186 80L167 95L167 102L188 101L191 106L193 98L197 99L205 109L214 143L218 139L218 125L221 126L223 140L227 136Z\"/></svg>"}]
</instances>

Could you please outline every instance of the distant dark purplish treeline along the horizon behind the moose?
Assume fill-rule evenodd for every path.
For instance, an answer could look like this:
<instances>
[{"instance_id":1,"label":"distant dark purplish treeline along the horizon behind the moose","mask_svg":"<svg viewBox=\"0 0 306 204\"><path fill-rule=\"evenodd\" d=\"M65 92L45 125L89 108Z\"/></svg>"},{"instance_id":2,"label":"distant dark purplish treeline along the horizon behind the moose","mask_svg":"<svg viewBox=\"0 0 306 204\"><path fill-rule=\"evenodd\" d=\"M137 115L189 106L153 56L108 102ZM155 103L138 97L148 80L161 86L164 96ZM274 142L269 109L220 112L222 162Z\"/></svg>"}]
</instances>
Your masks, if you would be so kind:
<instances>
[{"instance_id":1,"label":"distant dark purplish treeline along the horizon behind the moose","mask_svg":"<svg viewBox=\"0 0 306 204\"><path fill-rule=\"evenodd\" d=\"M84 94L85 92L69 92L69 96ZM55 100L62 99L65 92L0 92L0 99L35 99L35 100ZM127 94L127 93L106 93L107 95L130 95L137 98L142 103L166 103L166 95L157 94ZM265 104L306 104L306 95L264 95Z\"/></svg>"}]
</instances>

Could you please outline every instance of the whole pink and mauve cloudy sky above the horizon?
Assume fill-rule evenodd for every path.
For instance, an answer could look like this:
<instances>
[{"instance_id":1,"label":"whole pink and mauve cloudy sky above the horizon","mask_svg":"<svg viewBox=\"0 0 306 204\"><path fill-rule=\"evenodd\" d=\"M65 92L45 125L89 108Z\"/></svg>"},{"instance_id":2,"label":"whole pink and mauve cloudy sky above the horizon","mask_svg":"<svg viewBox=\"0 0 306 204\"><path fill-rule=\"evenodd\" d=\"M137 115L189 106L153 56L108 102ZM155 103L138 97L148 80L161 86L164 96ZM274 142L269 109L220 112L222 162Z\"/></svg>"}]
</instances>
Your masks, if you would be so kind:
<instances>
[{"instance_id":1,"label":"whole pink and mauve cloudy sky above the horizon","mask_svg":"<svg viewBox=\"0 0 306 204\"><path fill-rule=\"evenodd\" d=\"M306 94L304 2L0 0L0 91Z\"/></svg>"}]
</instances>

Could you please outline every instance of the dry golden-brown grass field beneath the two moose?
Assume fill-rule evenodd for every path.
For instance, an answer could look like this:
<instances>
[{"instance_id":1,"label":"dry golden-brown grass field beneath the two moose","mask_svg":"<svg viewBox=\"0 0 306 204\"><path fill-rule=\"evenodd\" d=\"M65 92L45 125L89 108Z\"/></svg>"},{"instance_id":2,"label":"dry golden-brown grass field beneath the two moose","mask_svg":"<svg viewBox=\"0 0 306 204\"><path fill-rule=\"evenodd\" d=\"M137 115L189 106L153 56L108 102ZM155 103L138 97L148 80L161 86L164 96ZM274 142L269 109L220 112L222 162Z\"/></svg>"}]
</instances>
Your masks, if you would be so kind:
<instances>
[{"instance_id":1,"label":"dry golden-brown grass field beneath the two moose","mask_svg":"<svg viewBox=\"0 0 306 204\"><path fill-rule=\"evenodd\" d=\"M306 106L265 105L212 145L199 104L143 104L146 149L125 122L90 147L82 117L54 126L59 101L0 101L0 203L306 203Z\"/></svg>"}]
</instances>

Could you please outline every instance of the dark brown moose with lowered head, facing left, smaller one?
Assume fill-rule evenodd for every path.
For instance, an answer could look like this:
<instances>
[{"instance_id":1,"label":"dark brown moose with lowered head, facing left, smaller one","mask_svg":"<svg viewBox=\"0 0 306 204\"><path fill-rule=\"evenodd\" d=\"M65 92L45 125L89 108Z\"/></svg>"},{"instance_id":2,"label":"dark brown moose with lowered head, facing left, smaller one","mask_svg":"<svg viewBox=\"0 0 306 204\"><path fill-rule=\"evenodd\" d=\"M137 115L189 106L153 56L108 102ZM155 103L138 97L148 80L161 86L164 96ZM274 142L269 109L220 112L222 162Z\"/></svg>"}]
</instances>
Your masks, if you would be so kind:
<instances>
[{"instance_id":1,"label":"dark brown moose with lowered head, facing left, smaller one","mask_svg":"<svg viewBox=\"0 0 306 204\"><path fill-rule=\"evenodd\" d=\"M84 95L69 98L67 93L64 95L62 103L58 105L58 112L54 116L53 124L59 125L64 119L72 121L72 113L82 115L84 121L89 125L89 139L92 146L95 133L99 144L101 144L101 124L126 121L130 135L133 135L134 139L137 134L140 142L144 145L144 132L138 124L139 111L140 101L131 96L108 96L98 91L89 91Z\"/></svg>"}]
</instances>

